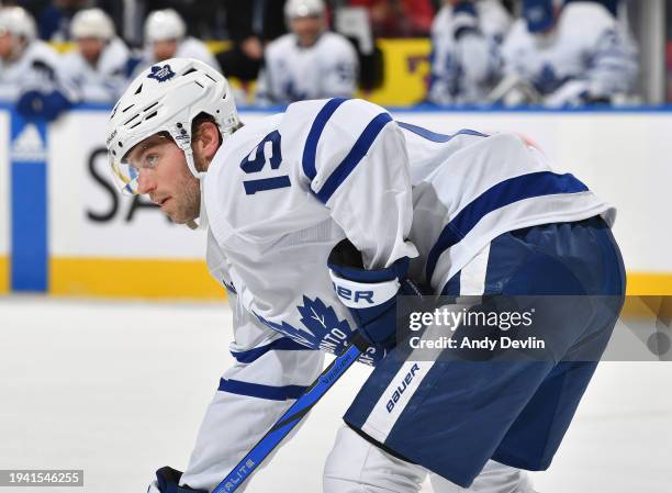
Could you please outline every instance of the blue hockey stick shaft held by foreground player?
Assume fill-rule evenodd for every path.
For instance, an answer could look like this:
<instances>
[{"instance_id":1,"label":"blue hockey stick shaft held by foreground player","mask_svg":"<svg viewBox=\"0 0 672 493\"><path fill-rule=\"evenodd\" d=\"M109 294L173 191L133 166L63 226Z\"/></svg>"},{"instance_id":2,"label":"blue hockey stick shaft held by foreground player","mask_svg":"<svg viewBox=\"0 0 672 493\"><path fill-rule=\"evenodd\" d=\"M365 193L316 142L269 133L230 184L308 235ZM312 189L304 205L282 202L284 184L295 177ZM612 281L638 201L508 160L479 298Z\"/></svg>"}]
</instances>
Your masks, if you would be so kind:
<instances>
[{"instance_id":1,"label":"blue hockey stick shaft held by foreground player","mask_svg":"<svg viewBox=\"0 0 672 493\"><path fill-rule=\"evenodd\" d=\"M217 484L212 493L236 491L368 348L369 343L357 334L344 351L317 377L311 386L276 422L273 427L251 448L247 456Z\"/></svg>"}]
</instances>

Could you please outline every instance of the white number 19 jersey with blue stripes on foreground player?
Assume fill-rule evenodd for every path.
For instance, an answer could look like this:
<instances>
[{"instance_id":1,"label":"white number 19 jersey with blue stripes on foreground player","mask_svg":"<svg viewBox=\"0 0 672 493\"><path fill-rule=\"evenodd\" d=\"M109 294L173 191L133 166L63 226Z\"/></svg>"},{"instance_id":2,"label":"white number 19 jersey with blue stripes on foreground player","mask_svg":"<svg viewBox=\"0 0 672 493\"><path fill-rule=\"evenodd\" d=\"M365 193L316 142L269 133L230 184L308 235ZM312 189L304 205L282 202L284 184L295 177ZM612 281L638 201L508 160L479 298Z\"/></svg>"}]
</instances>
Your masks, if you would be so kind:
<instances>
[{"instance_id":1,"label":"white number 19 jersey with blue stripes on foreground player","mask_svg":"<svg viewBox=\"0 0 672 493\"><path fill-rule=\"evenodd\" d=\"M237 131L202 191L208 264L231 295L237 360L182 477L209 491L316 377L311 349L338 351L355 330L326 267L337 242L347 236L367 268L411 257L411 277L440 292L502 233L614 215L517 135L438 134L340 98Z\"/></svg>"}]
</instances>

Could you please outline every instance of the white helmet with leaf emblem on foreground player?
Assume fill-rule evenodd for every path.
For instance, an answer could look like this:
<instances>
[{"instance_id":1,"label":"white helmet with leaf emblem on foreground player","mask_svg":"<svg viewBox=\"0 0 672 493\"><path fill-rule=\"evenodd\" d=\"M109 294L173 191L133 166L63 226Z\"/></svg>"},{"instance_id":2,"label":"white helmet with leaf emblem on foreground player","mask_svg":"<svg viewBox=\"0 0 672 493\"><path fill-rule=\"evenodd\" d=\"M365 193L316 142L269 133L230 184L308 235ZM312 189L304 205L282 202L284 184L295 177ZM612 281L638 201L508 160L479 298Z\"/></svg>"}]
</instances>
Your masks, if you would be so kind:
<instances>
[{"instance_id":1,"label":"white helmet with leaf emblem on foreground player","mask_svg":"<svg viewBox=\"0 0 672 493\"><path fill-rule=\"evenodd\" d=\"M240 121L234 96L222 74L192 58L170 58L144 70L121 97L108 123L107 146L113 176L122 192L137 194L138 171L125 160L133 146L159 132L168 132L195 169L191 123L201 113L211 115L228 137Z\"/></svg>"}]
</instances>

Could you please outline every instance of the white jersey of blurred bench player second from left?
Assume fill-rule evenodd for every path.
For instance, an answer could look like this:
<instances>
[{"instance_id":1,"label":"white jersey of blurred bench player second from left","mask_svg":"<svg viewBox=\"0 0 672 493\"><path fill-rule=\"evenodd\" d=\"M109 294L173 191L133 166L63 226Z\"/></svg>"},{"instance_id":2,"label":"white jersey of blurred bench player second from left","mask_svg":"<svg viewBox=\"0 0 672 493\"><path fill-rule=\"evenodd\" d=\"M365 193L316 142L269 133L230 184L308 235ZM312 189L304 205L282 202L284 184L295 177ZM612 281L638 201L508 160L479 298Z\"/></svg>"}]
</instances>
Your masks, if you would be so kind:
<instances>
[{"instance_id":1,"label":"white jersey of blurred bench player second from left","mask_svg":"<svg viewBox=\"0 0 672 493\"><path fill-rule=\"evenodd\" d=\"M115 37L100 54L96 66L89 64L79 51L63 58L63 71L74 81L85 102L113 103L126 89L131 52L122 40Z\"/></svg>"}]
</instances>

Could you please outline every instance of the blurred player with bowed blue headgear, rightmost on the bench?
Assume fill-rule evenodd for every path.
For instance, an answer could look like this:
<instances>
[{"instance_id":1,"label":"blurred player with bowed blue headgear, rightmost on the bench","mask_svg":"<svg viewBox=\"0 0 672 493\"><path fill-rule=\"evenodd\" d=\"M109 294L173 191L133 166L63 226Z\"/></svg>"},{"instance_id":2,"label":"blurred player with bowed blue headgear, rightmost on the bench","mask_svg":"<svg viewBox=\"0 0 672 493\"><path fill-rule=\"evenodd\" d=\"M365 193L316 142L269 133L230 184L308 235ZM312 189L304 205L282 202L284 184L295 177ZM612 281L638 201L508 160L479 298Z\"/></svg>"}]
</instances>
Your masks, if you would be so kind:
<instances>
[{"instance_id":1,"label":"blurred player with bowed blue headgear, rightmost on the bench","mask_svg":"<svg viewBox=\"0 0 672 493\"><path fill-rule=\"evenodd\" d=\"M606 7L523 0L522 13L502 46L503 78L492 102L561 108L631 100L637 47Z\"/></svg>"}]
</instances>

